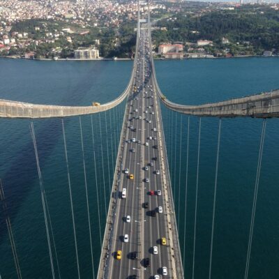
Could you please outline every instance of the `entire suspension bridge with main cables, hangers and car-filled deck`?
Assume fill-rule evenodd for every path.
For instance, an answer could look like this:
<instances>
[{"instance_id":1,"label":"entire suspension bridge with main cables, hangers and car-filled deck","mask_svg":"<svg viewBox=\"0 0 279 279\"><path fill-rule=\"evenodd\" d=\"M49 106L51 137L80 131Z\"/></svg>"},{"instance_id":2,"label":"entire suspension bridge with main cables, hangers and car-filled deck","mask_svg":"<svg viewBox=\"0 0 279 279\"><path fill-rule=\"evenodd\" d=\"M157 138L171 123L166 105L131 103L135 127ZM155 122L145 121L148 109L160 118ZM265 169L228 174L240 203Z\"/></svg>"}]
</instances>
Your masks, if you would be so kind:
<instances>
[{"instance_id":1,"label":"entire suspension bridge with main cables, hangers and car-filled deck","mask_svg":"<svg viewBox=\"0 0 279 279\"><path fill-rule=\"evenodd\" d=\"M147 9L144 8L147 6ZM192 277L195 278L195 242L197 228L197 193L199 186L199 156L201 138L201 117L218 117L218 138L216 152L216 173L214 181L213 215L211 225L211 250L209 255L209 278L211 278L212 251L214 239L214 221L216 218L216 192L218 186L218 166L220 153L220 134L222 129L222 119L225 117L253 117L262 118L262 134L259 142L259 156L257 163L257 174L255 179L255 190L253 194L252 216L250 222L250 232L248 250L246 255L246 269L244 278L248 278L250 266L250 251L252 246L252 236L255 223L255 211L257 206L257 192L259 187L259 177L262 167L262 153L264 149L264 137L266 130L266 119L279 116L279 90L264 92L243 98L234 98L218 103L208 103L204 105L179 105L169 101L160 91L156 80L155 66L151 47L151 23L149 3L138 2L137 15L137 45L133 63L132 75L126 90L110 103L93 105L87 107L59 106L59 105L38 105L32 103L15 102L12 100L0 100L0 117L11 119L31 119L31 138L36 157L36 167L40 183L40 194L43 205L43 215L45 229L47 233L47 244L50 255L50 266L52 278L60 278L59 264L57 261L56 248L52 244L54 237L52 234L52 224L48 211L45 189L43 186L43 176L38 156L36 133L33 119L61 118L63 132L63 146L66 158L66 168L68 172L68 188L70 193L71 217L73 222L73 234L75 241L75 257L77 263L77 276L80 275L79 253L77 248L77 232L75 227L75 213L73 208L72 188L70 178L70 167L68 162L68 146L65 133L64 118L68 116L82 116L85 114L99 114L105 112L105 129L107 135L106 112L111 112L116 107L116 114L121 114L123 110L123 123L120 133L119 148L115 162L112 160L114 168L113 183L110 193L109 204L105 204L105 215L107 216L105 232L102 234L100 228L100 206L98 206L98 234L100 234L101 252L98 266L97 278L185 278L185 235L180 236L176 224L176 204L174 202L169 173L169 160L165 144L164 125L161 110L169 110L179 114L187 114L199 117L198 129L198 151L197 151L197 179L195 192L195 216L194 216L194 244L193 244L193 269ZM119 107L121 110L119 110ZM177 120L177 114L176 114ZM93 246L96 245L93 239L91 218L89 214L89 196L86 181L86 164L84 160L84 139L82 133L82 120L80 122L80 136L82 140L82 158L84 167L84 183L86 188L86 209L88 212L89 242L91 246L91 269L92 276L96 276L96 266L93 264ZM101 120L99 118L99 123ZM182 123L182 122L181 122ZM189 148L189 119L187 134L187 158L186 158L186 189L188 179L188 148ZM176 125L175 125L176 126ZM182 132L182 124L181 124ZM181 135L180 132L180 135ZM94 145L94 126L91 116L91 133ZM107 158L109 154L109 144L107 139L100 133L101 142L107 144ZM181 140L180 140L181 142ZM116 147L116 143L112 143ZM105 178L105 167L102 153L103 178ZM112 152L113 153L113 152ZM96 150L93 152L94 167L96 169ZM113 157L113 156L112 156ZM180 159L181 162L181 159ZM180 173L183 171L181 163ZM109 172L110 173L110 172ZM110 175L110 174L109 174ZM1 181L0 181L1 182ZM98 189L105 184L96 181L97 197ZM8 235L10 238L15 269L18 278L23 278L20 272L20 260L17 257L13 231L8 217L7 204L3 187L0 183L0 197L3 212L5 213ZM179 188L180 190L180 188ZM187 190L186 190L187 195ZM180 193L179 193L180 196ZM186 197L187 199L187 197ZM178 210L178 214L179 214ZM183 246L179 241L183 241ZM183 257L181 257L181 247L183 247ZM55 263L56 259L56 263ZM4 279L4 278L3 278Z\"/></svg>"}]
</instances>

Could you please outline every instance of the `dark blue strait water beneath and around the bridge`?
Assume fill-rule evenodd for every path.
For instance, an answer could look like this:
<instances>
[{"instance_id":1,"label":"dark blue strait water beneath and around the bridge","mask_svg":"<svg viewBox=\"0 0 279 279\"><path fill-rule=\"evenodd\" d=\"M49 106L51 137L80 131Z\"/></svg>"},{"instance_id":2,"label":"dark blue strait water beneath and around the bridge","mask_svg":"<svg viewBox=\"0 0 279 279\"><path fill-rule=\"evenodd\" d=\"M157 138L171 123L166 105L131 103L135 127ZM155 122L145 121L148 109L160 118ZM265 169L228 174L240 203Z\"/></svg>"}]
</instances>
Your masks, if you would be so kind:
<instances>
[{"instance_id":1,"label":"dark blue strait water beneath and around the bridge","mask_svg":"<svg viewBox=\"0 0 279 279\"><path fill-rule=\"evenodd\" d=\"M1 59L0 97L57 105L89 105L92 101L105 103L116 98L125 89L131 68L132 63L126 61L50 62ZM226 100L279 88L279 60L273 58L156 61L156 73L165 96L174 102L184 104ZM184 257L188 116L182 116L180 139L181 115L166 111L164 108L162 112L179 225L179 241ZM96 174L91 116L81 118L95 272L98 270L100 257L96 178L103 234L105 205L108 206L109 202L122 116L123 107L107 112L106 115L103 113L100 116L92 116L97 159ZM107 118L107 132L103 125L105 118ZM101 127L99 121L102 123ZM192 276L193 271L198 121L199 119L190 117L185 234L186 278ZM0 120L0 178L6 193L22 277L51 278L29 123L29 120ZM78 117L74 117L66 119L65 123L81 276L92 278L80 122ZM61 119L37 120L34 121L34 125L61 278L77 278ZM261 129L261 119L222 121L211 278L244 277ZM100 133L103 142L103 163ZM206 278L209 274L217 136L218 119L202 118L195 278ZM268 119L248 278L279 278L278 140L278 121ZM179 152L180 144L181 152ZM0 256L2 279L16 278L6 224L3 223L3 212L0 213ZM59 278L55 261L54 267L56 278Z\"/></svg>"}]
</instances>

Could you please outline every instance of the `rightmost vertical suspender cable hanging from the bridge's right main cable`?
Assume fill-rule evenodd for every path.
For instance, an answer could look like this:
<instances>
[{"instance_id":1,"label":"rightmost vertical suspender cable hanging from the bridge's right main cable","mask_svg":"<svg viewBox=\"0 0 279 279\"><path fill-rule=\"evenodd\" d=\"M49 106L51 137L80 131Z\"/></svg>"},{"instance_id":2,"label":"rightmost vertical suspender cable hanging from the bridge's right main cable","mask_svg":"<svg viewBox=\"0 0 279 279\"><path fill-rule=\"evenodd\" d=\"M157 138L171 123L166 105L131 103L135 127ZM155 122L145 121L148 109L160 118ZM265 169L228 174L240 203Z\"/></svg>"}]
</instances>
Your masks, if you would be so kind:
<instances>
[{"instance_id":1,"label":"rightmost vertical suspender cable hanging from the bridge's right main cable","mask_svg":"<svg viewBox=\"0 0 279 279\"><path fill-rule=\"evenodd\" d=\"M254 232L255 213L256 213L256 206L257 206L257 191L259 188L259 175L260 175L261 168L262 168L262 151L264 149L265 133L266 133L266 119L264 119L264 121L262 123L262 136L261 136L261 142L259 144L259 158L258 158L258 162L257 162L257 174L256 174L254 198L253 198L253 204L252 204L252 216L251 216L251 223L250 223L250 234L249 234L248 251L247 251L247 258L246 258L246 269L245 269L245 276L244 276L245 279L248 278L249 265L250 265L252 236L253 236L253 232Z\"/></svg>"}]
</instances>

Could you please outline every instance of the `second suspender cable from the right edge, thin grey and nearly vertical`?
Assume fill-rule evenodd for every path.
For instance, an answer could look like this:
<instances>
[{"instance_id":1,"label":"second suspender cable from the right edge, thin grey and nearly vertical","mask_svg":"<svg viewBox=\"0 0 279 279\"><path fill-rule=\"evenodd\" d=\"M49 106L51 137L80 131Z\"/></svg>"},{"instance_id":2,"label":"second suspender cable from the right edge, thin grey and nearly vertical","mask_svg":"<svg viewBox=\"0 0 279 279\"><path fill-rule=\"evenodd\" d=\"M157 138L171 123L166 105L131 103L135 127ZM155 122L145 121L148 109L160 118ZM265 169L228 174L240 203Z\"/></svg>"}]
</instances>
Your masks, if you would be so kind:
<instances>
[{"instance_id":1,"label":"second suspender cable from the right edge, thin grey and nearly vertical","mask_svg":"<svg viewBox=\"0 0 279 279\"><path fill-rule=\"evenodd\" d=\"M210 247L210 259L209 259L209 279L211 279L211 265L212 265L213 236L214 236L215 209L216 209L216 191L217 191L217 181L218 181L218 165L219 165L221 123L222 123L222 119L220 118L219 119L219 128L218 128L218 144L217 144L217 155L216 155L216 171L215 171L213 213L212 213L212 226L211 226L211 247Z\"/></svg>"}]
</instances>

